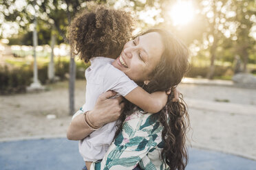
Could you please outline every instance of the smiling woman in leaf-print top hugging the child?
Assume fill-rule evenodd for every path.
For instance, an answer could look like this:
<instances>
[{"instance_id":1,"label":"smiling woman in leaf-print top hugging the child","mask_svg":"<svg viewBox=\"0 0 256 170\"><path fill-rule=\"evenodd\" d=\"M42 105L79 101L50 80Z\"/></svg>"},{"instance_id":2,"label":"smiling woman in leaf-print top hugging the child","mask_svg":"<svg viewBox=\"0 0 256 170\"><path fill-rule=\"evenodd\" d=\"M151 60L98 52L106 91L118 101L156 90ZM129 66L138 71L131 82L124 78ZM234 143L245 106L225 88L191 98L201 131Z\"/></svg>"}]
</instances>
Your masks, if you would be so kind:
<instances>
[{"instance_id":1,"label":"smiling woman in leaf-print top hugging the child","mask_svg":"<svg viewBox=\"0 0 256 170\"><path fill-rule=\"evenodd\" d=\"M149 93L177 86L188 68L188 50L180 40L163 29L150 29L127 42L121 56L129 68L120 65L118 68L118 60L113 64L132 80L138 80L138 84L144 82L140 86ZM142 64L138 60L142 60ZM96 169L133 169L138 164L142 169L184 169L187 160L185 119L188 114L182 102L173 103L171 98L169 96L167 105L156 114L142 112L134 105L127 104L120 117L116 139L101 165L96 164ZM98 103L100 101L105 99L101 97ZM94 114L90 114L94 125L116 119L110 116L105 122L96 121L96 115L102 114L103 109L109 110L109 107L101 107L98 103L92 110ZM114 112L120 112L120 108L122 106ZM72 121L67 138L81 139L89 133L83 116L80 116Z\"/></svg>"}]
</instances>

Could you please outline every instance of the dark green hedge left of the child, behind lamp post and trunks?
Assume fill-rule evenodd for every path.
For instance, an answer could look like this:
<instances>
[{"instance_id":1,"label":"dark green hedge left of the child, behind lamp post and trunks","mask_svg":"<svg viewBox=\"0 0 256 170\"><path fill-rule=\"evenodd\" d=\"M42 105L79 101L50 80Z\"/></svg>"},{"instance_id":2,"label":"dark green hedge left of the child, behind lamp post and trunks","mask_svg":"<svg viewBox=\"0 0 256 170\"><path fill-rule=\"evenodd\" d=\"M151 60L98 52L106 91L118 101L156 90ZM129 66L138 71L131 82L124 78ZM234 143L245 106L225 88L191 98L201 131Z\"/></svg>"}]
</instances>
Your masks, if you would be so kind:
<instances>
[{"instance_id":1,"label":"dark green hedge left of the child, behind lamp post and trunks","mask_svg":"<svg viewBox=\"0 0 256 170\"><path fill-rule=\"evenodd\" d=\"M76 78L85 79L85 69L89 63L76 62ZM41 84L46 84L48 65L38 64L38 77ZM70 70L70 62L67 60L58 60L55 63L55 75L61 80L67 79ZM0 67L0 94L24 93L27 86L30 86L33 80L33 63L29 66L21 67Z\"/></svg>"}]
</instances>

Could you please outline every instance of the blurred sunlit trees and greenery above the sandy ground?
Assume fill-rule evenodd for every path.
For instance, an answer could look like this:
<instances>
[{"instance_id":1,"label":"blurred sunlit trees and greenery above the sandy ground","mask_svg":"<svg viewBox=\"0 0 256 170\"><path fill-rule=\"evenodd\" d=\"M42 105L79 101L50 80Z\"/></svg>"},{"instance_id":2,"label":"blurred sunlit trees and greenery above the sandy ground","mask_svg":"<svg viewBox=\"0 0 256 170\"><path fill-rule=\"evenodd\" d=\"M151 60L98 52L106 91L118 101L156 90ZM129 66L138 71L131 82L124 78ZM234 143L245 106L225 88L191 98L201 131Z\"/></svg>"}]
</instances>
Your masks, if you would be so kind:
<instances>
[{"instance_id":1,"label":"blurred sunlit trees and greenery above the sandy ground","mask_svg":"<svg viewBox=\"0 0 256 170\"><path fill-rule=\"evenodd\" d=\"M254 0L95 2L131 12L137 19L134 34L150 27L164 27L182 38L191 49L191 70L186 77L231 80L237 72L256 75ZM67 79L70 48L66 29L76 12L87 8L87 3L82 0L1 1L1 94L24 92L32 83L33 45L41 84L53 80L54 76ZM34 31L37 36L33 44ZM76 60L77 79L84 78L81 70L86 66Z\"/></svg>"}]
</instances>

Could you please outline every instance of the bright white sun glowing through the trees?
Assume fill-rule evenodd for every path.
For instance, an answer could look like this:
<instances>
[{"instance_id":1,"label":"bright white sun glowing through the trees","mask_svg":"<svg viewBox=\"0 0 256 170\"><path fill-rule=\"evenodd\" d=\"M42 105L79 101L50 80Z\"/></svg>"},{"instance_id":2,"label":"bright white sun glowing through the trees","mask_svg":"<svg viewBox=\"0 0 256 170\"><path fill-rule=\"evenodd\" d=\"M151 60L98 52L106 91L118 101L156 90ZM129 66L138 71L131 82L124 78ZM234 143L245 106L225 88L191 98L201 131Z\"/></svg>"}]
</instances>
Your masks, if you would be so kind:
<instances>
[{"instance_id":1,"label":"bright white sun glowing through the trees","mask_svg":"<svg viewBox=\"0 0 256 170\"><path fill-rule=\"evenodd\" d=\"M178 1L169 12L173 25L186 25L193 20L194 8L192 1Z\"/></svg>"}]
</instances>

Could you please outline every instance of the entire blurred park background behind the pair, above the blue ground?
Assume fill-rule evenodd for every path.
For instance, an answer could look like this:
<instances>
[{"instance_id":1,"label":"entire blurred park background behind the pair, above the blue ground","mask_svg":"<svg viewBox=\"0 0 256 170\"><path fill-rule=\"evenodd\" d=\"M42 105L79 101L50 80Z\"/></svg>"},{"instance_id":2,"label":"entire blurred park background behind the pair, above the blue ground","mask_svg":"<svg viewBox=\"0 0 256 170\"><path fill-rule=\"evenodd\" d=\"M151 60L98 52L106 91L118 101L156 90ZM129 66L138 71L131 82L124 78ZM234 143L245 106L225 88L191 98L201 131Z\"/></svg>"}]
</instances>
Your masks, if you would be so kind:
<instances>
[{"instance_id":1,"label":"entire blurred park background behind the pair, above the blue ground","mask_svg":"<svg viewBox=\"0 0 256 170\"><path fill-rule=\"evenodd\" d=\"M188 145L256 160L255 0L0 0L1 141L65 136L89 66L70 54L67 27L90 3L131 12L134 34L163 27L181 38Z\"/></svg>"}]
</instances>

